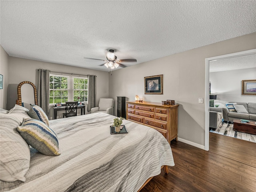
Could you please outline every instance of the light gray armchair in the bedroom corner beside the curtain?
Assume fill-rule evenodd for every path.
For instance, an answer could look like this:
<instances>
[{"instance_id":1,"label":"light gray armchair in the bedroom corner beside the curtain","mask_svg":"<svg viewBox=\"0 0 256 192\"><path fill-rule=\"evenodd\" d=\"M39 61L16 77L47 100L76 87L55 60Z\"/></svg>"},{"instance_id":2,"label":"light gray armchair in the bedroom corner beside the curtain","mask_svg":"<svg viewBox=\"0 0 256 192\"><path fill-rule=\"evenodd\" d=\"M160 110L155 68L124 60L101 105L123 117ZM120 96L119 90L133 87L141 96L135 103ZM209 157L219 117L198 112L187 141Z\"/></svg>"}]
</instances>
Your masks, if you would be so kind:
<instances>
[{"instance_id":1,"label":"light gray armchair in the bedroom corner beside the curtain","mask_svg":"<svg viewBox=\"0 0 256 192\"><path fill-rule=\"evenodd\" d=\"M98 107L91 108L91 113L104 112L114 115L114 99L100 98Z\"/></svg>"}]
</instances>

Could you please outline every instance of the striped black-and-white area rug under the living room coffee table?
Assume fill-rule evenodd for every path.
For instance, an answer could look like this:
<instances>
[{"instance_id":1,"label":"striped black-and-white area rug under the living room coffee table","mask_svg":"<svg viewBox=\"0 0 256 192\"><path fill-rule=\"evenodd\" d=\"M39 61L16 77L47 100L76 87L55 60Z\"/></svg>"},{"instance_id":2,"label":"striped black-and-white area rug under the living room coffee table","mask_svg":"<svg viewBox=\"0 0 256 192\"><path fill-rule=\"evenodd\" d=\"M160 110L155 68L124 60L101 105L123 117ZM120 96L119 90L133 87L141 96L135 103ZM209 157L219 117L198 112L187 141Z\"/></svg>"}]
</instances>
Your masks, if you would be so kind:
<instances>
[{"instance_id":1,"label":"striped black-and-white area rug under the living room coffee table","mask_svg":"<svg viewBox=\"0 0 256 192\"><path fill-rule=\"evenodd\" d=\"M218 126L218 128L216 128L215 131L210 130L210 132L256 143L256 135L247 134L247 133L243 133L243 132L239 132L239 131L234 131L233 126L234 125L232 123L222 122L222 124L220 124L220 126Z\"/></svg>"}]
</instances>

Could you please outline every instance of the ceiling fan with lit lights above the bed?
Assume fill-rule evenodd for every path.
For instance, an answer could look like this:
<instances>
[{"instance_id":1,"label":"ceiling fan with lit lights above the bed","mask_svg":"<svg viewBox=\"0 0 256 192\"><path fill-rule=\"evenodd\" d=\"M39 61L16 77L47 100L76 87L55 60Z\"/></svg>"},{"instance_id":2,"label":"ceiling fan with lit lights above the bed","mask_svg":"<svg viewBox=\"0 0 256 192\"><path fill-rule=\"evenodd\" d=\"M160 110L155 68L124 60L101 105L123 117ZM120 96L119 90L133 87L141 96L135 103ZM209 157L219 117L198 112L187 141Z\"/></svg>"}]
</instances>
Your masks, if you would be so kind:
<instances>
[{"instance_id":1,"label":"ceiling fan with lit lights above the bed","mask_svg":"<svg viewBox=\"0 0 256 192\"><path fill-rule=\"evenodd\" d=\"M94 59L94 58L88 58L88 57L84 57L85 59ZM120 67L127 67L124 64L120 63L120 62L137 62L136 59L120 59L117 60L117 56L115 56L114 54L114 50L110 49L108 51L108 53L106 54L106 59L107 60L102 60L102 59L94 59L94 60L101 60L101 61L105 61L105 64L101 64L100 66L105 66L106 68L110 68L111 70L114 68L118 68L118 66Z\"/></svg>"}]
</instances>

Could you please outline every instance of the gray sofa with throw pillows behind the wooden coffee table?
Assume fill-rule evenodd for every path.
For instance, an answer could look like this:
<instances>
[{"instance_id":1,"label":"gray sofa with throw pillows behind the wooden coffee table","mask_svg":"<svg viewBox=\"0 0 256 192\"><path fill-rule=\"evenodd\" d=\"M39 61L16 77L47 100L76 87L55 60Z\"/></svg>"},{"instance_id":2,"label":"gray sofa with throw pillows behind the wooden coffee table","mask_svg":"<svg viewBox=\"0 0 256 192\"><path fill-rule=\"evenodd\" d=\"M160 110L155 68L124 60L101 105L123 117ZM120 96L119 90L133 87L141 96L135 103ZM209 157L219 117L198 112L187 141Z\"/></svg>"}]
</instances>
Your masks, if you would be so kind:
<instances>
[{"instance_id":1,"label":"gray sofa with throw pillows behind the wooden coffee table","mask_svg":"<svg viewBox=\"0 0 256 192\"><path fill-rule=\"evenodd\" d=\"M233 122L234 119L256 121L256 103L228 102L222 108L222 113L224 122Z\"/></svg>"}]
</instances>

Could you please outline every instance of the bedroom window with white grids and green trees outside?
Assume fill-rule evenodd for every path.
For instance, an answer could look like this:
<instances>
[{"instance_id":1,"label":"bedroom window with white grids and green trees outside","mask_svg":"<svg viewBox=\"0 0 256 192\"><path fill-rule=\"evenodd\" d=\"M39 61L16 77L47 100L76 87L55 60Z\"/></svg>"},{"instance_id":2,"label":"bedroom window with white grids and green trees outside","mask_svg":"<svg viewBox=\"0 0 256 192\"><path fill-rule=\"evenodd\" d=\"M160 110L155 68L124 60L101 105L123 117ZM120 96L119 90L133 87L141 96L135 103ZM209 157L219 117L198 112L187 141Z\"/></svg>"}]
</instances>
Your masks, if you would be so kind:
<instances>
[{"instance_id":1,"label":"bedroom window with white grids and green trees outside","mask_svg":"<svg viewBox=\"0 0 256 192\"><path fill-rule=\"evenodd\" d=\"M66 101L87 102L88 80L86 77L50 74L50 104Z\"/></svg>"}]
</instances>

